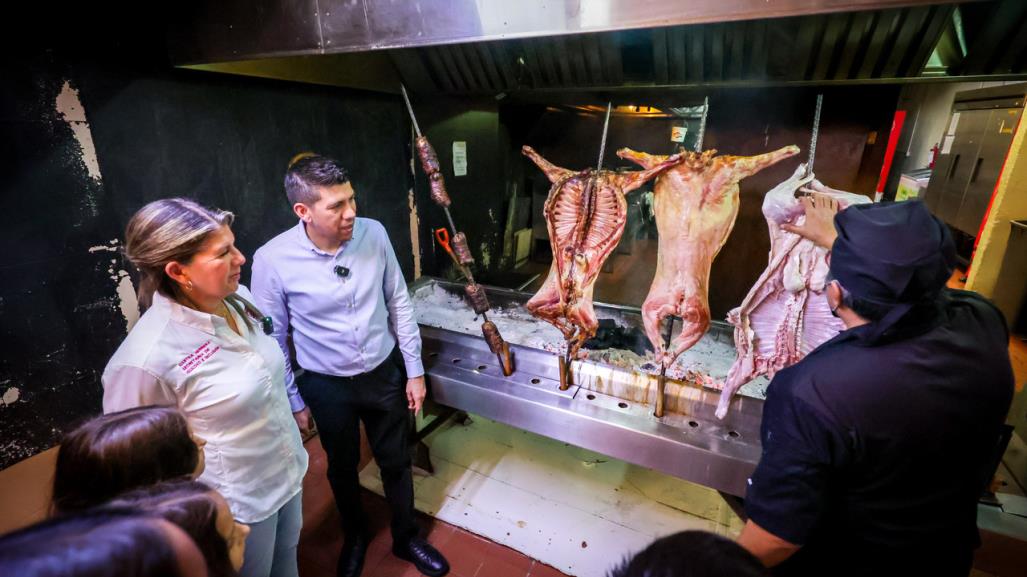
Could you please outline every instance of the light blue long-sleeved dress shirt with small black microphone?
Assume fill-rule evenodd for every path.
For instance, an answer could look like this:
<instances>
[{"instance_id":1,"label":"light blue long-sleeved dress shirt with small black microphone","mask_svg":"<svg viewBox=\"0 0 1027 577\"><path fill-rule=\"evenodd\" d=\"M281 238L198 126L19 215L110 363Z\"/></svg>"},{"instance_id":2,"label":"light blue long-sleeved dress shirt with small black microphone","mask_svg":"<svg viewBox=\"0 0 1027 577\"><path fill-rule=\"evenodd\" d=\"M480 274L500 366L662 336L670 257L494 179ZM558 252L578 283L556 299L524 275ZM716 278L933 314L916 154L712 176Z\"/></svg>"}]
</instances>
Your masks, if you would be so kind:
<instances>
[{"instance_id":1,"label":"light blue long-sleeved dress shirt with small black microphone","mask_svg":"<svg viewBox=\"0 0 1027 577\"><path fill-rule=\"evenodd\" d=\"M349 274L340 277L337 266ZM274 319L272 336L287 358L292 333L303 369L337 377L367 373L398 342L407 376L424 374L407 282L378 221L357 218L353 236L334 255L314 246L300 221L254 255L251 287L254 304ZM296 412L305 405L288 364L286 386Z\"/></svg>"}]
</instances>

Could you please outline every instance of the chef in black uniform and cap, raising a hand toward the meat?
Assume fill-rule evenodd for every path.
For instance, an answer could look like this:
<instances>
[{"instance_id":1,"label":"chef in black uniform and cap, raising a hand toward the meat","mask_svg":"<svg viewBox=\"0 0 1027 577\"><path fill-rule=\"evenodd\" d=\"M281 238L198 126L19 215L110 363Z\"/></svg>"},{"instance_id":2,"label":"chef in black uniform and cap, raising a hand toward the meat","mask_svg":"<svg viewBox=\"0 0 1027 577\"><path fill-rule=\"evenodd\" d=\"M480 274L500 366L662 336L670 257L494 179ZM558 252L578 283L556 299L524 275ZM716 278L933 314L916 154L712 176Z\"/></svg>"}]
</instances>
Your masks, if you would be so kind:
<instances>
[{"instance_id":1,"label":"chef in black uniform and cap, raising a hand toward the meat","mask_svg":"<svg viewBox=\"0 0 1027 577\"><path fill-rule=\"evenodd\" d=\"M847 329L770 383L738 542L774 575L964 577L1013 396L1005 321L946 288L953 241L920 201L833 227L829 200L806 203L785 228L832 248Z\"/></svg>"}]
</instances>

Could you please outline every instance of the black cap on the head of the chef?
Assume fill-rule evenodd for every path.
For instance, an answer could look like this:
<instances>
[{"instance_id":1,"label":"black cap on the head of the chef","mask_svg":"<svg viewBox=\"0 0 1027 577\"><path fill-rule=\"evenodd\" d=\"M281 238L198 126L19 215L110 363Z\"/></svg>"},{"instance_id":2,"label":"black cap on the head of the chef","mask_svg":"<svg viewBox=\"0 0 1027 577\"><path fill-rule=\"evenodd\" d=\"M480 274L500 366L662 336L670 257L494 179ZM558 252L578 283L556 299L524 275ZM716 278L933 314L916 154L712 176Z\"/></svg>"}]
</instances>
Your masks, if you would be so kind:
<instances>
[{"instance_id":1,"label":"black cap on the head of the chef","mask_svg":"<svg viewBox=\"0 0 1027 577\"><path fill-rule=\"evenodd\" d=\"M955 268L949 229L923 202L853 204L835 216L831 275L883 306L936 298Z\"/></svg>"}]
</instances>

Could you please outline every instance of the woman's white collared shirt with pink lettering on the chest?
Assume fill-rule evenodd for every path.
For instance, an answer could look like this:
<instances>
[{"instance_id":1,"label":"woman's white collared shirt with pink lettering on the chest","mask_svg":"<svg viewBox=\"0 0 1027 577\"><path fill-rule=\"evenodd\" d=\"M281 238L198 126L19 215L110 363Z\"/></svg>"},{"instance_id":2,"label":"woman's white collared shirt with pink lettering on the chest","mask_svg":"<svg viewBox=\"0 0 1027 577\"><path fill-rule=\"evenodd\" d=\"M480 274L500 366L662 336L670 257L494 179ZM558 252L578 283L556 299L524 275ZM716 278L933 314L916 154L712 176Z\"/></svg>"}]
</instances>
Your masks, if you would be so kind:
<instances>
[{"instance_id":1,"label":"woman's white collared shirt with pink lettering on the chest","mask_svg":"<svg viewBox=\"0 0 1027 577\"><path fill-rule=\"evenodd\" d=\"M253 300L245 286L238 295ZM104 413L178 407L206 440L199 480L241 523L259 523L302 488L307 453L286 394L286 359L274 339L229 307L225 319L160 295L104 370Z\"/></svg>"}]
</instances>

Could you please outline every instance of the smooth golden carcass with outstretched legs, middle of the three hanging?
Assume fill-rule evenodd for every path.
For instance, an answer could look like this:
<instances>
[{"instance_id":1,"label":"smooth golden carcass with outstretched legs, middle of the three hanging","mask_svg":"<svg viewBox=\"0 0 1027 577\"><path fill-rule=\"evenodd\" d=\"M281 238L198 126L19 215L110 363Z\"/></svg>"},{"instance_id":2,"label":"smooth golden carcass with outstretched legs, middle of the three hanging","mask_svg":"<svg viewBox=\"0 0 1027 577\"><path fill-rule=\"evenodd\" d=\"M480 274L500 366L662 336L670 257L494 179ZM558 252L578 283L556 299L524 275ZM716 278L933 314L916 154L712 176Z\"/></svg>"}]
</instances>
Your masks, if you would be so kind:
<instances>
[{"instance_id":1,"label":"smooth golden carcass with outstretched legs, middle of the three hanging","mask_svg":"<svg viewBox=\"0 0 1027 577\"><path fill-rule=\"evenodd\" d=\"M683 152L685 160L656 179L653 209L659 251L642 320L656 360L663 367L671 366L710 328L710 268L738 216L738 183L798 152L796 146L758 156L716 156L715 150ZM667 159L626 148L617 151L617 156L643 167ZM681 317L682 329L665 350L659 326L669 315Z\"/></svg>"}]
</instances>

